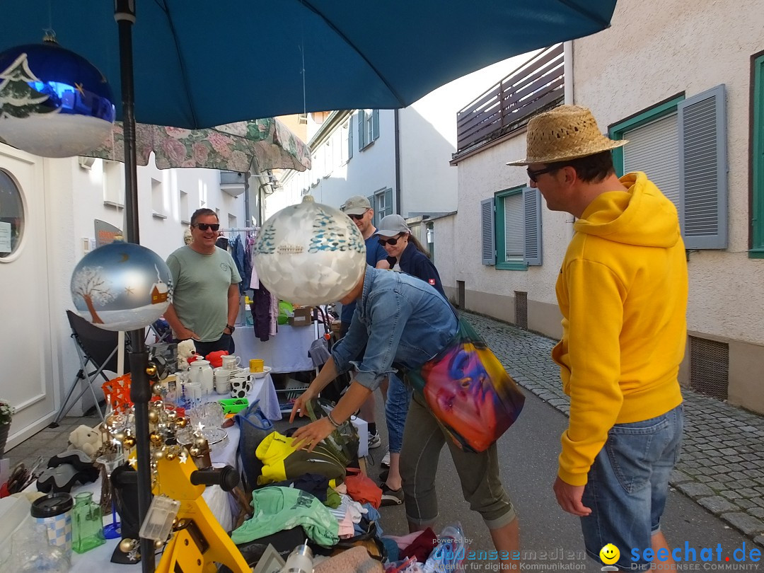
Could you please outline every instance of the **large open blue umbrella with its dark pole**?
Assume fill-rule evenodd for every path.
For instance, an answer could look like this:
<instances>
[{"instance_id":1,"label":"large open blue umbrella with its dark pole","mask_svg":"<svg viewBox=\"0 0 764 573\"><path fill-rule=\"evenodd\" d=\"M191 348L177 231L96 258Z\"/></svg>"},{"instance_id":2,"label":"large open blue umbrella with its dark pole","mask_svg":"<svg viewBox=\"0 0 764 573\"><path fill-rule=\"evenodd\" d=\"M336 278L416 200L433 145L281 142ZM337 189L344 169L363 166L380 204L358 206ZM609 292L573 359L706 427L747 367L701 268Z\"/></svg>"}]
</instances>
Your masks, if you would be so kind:
<instances>
[{"instance_id":1,"label":"large open blue umbrella with its dark pole","mask_svg":"<svg viewBox=\"0 0 764 573\"><path fill-rule=\"evenodd\" d=\"M616 0L148 0L137 14L134 0L115 4L116 16L105 0L6 0L0 52L53 29L121 92L126 230L138 242L135 121L198 129L404 107L490 63L607 28ZM131 398L142 518L151 500L149 384L138 346ZM151 541L141 540L141 554L143 570L153 571Z\"/></svg>"}]
</instances>

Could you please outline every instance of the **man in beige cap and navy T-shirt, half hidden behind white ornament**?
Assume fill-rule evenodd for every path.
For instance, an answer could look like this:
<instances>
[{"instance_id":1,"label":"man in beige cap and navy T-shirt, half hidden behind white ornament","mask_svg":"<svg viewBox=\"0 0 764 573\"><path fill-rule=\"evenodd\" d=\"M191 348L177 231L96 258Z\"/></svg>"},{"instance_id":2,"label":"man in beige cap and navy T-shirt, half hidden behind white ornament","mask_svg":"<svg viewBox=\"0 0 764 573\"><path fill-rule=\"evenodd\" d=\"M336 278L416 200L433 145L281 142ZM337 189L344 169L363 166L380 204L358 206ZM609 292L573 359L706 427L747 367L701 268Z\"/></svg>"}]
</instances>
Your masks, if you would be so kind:
<instances>
[{"instance_id":1,"label":"man in beige cap and navy T-shirt, half hidden behind white ornament","mask_svg":"<svg viewBox=\"0 0 764 573\"><path fill-rule=\"evenodd\" d=\"M374 227L372 221L374 220L374 210L371 209L371 203L362 195L354 195L340 207L345 215L348 215L355 226L358 227L358 231L361 231L361 235L366 243L366 263L371 267L378 269L389 269L390 264L387 263L387 253L382 245L379 244L377 238L374 237L374 233L377 228ZM353 312L355 312L355 301L352 303L342 305L342 311L340 311L340 337L345 336L350 328L350 323L353 320ZM383 390L385 390L383 388ZM380 439L379 432L377 432L377 423L374 419L374 394L371 394L364 406L361 407L361 417L368 423L369 431L369 448L379 448L382 445L382 439Z\"/></svg>"}]
</instances>

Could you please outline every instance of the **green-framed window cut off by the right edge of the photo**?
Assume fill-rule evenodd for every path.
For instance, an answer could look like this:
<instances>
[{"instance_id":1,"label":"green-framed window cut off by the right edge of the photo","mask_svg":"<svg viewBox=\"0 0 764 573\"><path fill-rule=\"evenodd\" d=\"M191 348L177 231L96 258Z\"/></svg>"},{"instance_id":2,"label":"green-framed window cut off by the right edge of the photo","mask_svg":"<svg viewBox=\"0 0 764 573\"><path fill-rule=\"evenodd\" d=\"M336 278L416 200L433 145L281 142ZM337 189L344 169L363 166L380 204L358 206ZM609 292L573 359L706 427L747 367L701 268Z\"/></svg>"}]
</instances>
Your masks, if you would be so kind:
<instances>
[{"instance_id":1,"label":"green-framed window cut off by the right edge of the photo","mask_svg":"<svg viewBox=\"0 0 764 573\"><path fill-rule=\"evenodd\" d=\"M751 201L751 250L748 256L764 259L764 53L753 58L753 197Z\"/></svg>"}]
</instances>

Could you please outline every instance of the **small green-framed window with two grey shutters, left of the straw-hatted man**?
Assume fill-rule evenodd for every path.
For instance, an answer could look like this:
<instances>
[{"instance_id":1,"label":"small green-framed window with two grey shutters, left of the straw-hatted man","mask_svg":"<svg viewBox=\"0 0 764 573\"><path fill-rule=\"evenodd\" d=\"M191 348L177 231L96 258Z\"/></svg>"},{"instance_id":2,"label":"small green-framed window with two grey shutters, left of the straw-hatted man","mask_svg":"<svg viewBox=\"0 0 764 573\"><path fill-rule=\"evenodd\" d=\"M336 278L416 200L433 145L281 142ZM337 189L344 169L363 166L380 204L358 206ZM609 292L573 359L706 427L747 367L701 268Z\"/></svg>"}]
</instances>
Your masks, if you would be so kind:
<instances>
[{"instance_id":1,"label":"small green-framed window with two grey shutters, left of the straw-hatted man","mask_svg":"<svg viewBox=\"0 0 764 573\"><path fill-rule=\"evenodd\" d=\"M481 201L481 260L506 270L542 263L538 189L515 187Z\"/></svg>"}]
</instances>

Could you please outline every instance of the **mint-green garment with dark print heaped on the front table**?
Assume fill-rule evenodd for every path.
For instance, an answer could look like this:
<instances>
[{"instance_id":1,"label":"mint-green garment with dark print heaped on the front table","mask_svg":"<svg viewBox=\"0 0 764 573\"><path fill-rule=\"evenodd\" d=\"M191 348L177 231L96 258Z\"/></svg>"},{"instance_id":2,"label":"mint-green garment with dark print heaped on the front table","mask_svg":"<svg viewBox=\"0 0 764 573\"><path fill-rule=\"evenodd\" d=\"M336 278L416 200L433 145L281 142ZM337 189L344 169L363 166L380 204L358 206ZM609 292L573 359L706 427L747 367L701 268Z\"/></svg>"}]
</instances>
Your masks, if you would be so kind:
<instances>
[{"instance_id":1,"label":"mint-green garment with dark print heaped on the front table","mask_svg":"<svg viewBox=\"0 0 764 573\"><path fill-rule=\"evenodd\" d=\"M252 492L254 515L231 533L234 543L246 543L303 526L307 536L324 547L339 541L339 525L316 498L293 487L264 487Z\"/></svg>"}]
</instances>

